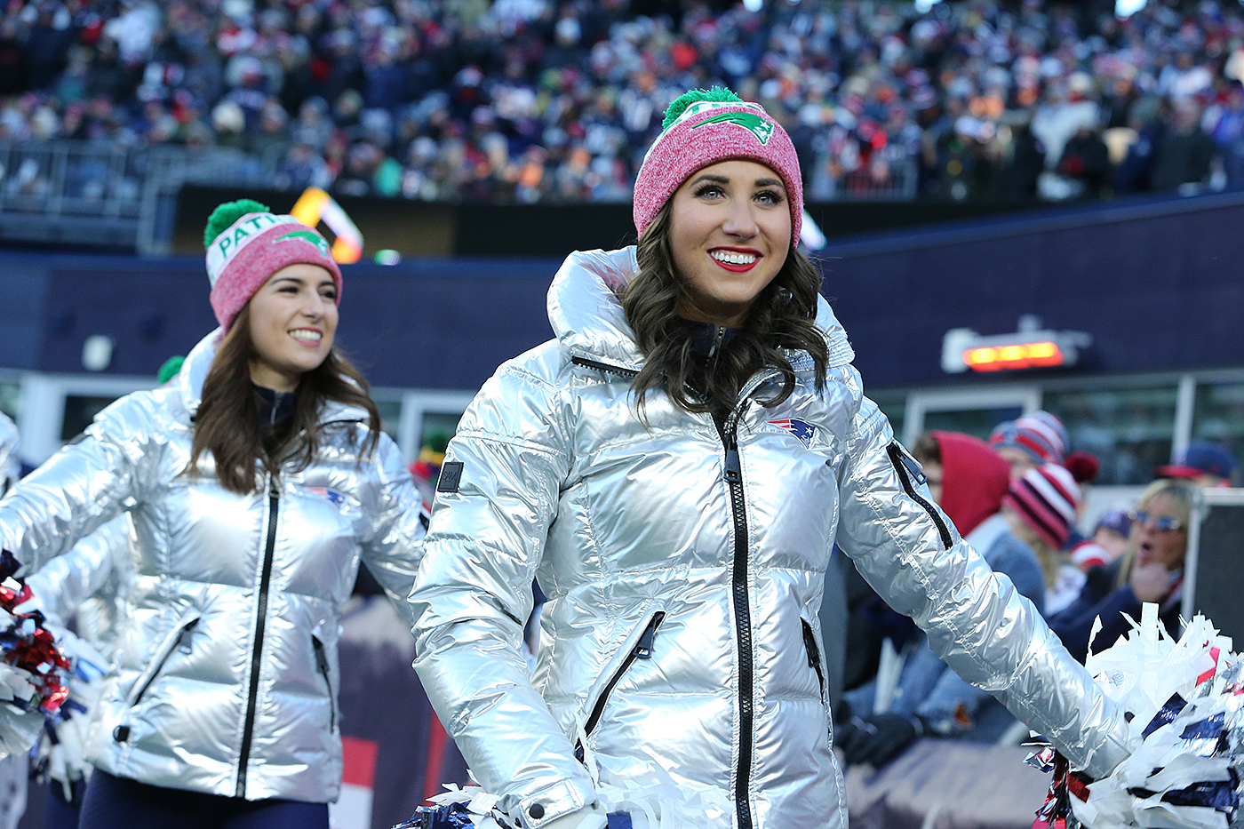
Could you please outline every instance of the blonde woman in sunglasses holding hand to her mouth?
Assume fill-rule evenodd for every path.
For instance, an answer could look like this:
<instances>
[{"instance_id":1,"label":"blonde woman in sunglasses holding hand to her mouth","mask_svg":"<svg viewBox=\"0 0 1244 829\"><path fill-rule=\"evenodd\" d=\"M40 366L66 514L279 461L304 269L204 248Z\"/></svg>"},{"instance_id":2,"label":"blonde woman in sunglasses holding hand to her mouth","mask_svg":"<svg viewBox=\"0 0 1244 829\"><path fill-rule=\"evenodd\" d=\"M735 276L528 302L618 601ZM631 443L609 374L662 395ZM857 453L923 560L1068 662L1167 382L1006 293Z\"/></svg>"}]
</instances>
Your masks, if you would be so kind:
<instances>
[{"instance_id":1,"label":"blonde woman in sunglasses holding hand to her mouth","mask_svg":"<svg viewBox=\"0 0 1244 829\"><path fill-rule=\"evenodd\" d=\"M1079 599L1049 619L1050 629L1077 660L1084 662L1088 653L1095 619L1101 617L1102 629L1092 646L1100 651L1131 630L1125 614L1140 619L1143 602L1157 604L1167 631L1179 634L1183 558L1194 494L1194 485L1178 478L1151 483L1131 513L1123 555L1090 570Z\"/></svg>"}]
</instances>

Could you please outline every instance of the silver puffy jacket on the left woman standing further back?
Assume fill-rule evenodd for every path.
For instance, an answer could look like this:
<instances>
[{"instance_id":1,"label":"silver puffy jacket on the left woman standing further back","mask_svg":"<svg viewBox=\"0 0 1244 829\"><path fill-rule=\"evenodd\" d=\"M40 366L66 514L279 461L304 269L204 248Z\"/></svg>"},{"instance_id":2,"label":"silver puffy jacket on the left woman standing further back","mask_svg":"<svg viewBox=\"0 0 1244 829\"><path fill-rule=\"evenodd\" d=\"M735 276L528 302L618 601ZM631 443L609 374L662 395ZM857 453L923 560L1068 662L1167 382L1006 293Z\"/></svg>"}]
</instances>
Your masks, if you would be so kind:
<instances>
[{"instance_id":1,"label":"silver puffy jacket on the left woman standing further back","mask_svg":"<svg viewBox=\"0 0 1244 829\"><path fill-rule=\"evenodd\" d=\"M0 502L0 543L37 569L128 509L133 583L103 692L97 768L178 789L325 803L341 785L341 606L360 555L406 605L423 538L419 498L366 413L326 406L310 467L239 495L198 475L192 417L215 352L128 395Z\"/></svg>"}]
</instances>

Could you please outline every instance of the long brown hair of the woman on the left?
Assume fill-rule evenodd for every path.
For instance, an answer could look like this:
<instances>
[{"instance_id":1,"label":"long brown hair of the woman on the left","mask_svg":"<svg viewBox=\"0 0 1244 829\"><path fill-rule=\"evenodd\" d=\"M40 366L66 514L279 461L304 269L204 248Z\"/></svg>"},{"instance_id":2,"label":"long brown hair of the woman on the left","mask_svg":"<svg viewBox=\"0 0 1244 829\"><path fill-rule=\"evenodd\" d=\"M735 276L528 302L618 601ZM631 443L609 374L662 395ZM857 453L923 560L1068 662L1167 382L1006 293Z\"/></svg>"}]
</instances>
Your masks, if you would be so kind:
<instances>
[{"instance_id":1,"label":"long brown hair of the woman on the left","mask_svg":"<svg viewBox=\"0 0 1244 829\"><path fill-rule=\"evenodd\" d=\"M307 467L320 448L320 412L330 400L367 412L363 457L376 449L381 433L379 410L372 401L367 381L336 347L318 367L302 375L294 416L270 433L260 423L260 392L250 381L254 356L248 302L229 326L203 382L187 473L198 473L199 458L210 452L220 485L229 492L249 494L260 485L260 464L271 474L286 462L292 462L295 468Z\"/></svg>"}]
</instances>

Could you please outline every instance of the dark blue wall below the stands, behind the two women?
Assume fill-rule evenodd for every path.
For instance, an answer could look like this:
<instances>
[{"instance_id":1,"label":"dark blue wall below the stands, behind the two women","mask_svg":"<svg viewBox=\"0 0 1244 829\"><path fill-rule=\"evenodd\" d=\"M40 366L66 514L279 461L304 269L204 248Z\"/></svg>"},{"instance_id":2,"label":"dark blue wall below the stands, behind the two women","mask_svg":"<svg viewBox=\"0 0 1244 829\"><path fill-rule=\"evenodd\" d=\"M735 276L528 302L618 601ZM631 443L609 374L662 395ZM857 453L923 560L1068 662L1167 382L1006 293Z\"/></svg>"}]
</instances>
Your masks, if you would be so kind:
<instances>
[{"instance_id":1,"label":"dark blue wall below the stands, behind the two women","mask_svg":"<svg viewBox=\"0 0 1244 829\"><path fill-rule=\"evenodd\" d=\"M1023 314L1087 331L1076 373L1244 365L1244 195L1110 203L836 241L826 296L873 387L945 380L942 336L1014 331ZM374 385L474 390L546 340L559 259L346 266L341 342ZM149 376L214 326L197 256L0 255L0 366Z\"/></svg>"}]
</instances>

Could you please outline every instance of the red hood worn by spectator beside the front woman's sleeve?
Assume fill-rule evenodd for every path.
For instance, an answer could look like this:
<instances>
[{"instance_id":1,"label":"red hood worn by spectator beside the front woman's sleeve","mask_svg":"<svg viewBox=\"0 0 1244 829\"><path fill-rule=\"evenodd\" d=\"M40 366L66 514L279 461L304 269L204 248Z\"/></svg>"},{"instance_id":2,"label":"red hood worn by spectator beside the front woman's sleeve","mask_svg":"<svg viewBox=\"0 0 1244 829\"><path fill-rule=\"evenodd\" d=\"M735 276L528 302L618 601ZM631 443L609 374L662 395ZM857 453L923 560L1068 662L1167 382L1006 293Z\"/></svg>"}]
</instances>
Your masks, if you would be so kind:
<instances>
[{"instance_id":1,"label":"red hood worn by spectator beside the front woman's sleeve","mask_svg":"<svg viewBox=\"0 0 1244 829\"><path fill-rule=\"evenodd\" d=\"M932 434L942 452L942 510L967 535L1001 509L1010 467L980 438L962 432Z\"/></svg>"}]
</instances>

